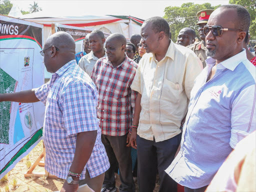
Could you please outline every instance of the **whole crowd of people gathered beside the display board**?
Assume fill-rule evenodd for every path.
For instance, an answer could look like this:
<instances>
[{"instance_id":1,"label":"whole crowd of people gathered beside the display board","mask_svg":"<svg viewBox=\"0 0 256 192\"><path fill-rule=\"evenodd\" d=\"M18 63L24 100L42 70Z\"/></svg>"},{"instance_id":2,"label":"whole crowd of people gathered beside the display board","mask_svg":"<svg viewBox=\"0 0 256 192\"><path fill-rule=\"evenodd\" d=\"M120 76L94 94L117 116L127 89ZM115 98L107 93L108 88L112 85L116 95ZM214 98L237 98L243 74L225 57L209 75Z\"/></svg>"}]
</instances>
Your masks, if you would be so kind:
<instances>
[{"instance_id":1,"label":"whole crowd of people gathered beside the display board","mask_svg":"<svg viewBox=\"0 0 256 192\"><path fill-rule=\"evenodd\" d=\"M157 174L159 191L177 191L177 183L185 192L256 190L255 172L244 172L250 167L236 169L232 163L226 169L230 163L223 163L240 140L255 135L250 15L228 4L201 10L197 17L200 41L185 27L174 43L161 17L145 20L130 43L120 33L105 39L93 30L77 54L73 38L56 32L41 51L53 73L50 80L0 94L0 101L45 104L45 169L65 179L60 191L86 183L96 192L114 192L116 171L119 191L135 191L134 172L141 192L153 191ZM247 138L252 136L237 145L228 162L241 155L242 163L248 159L255 167Z\"/></svg>"}]
</instances>

